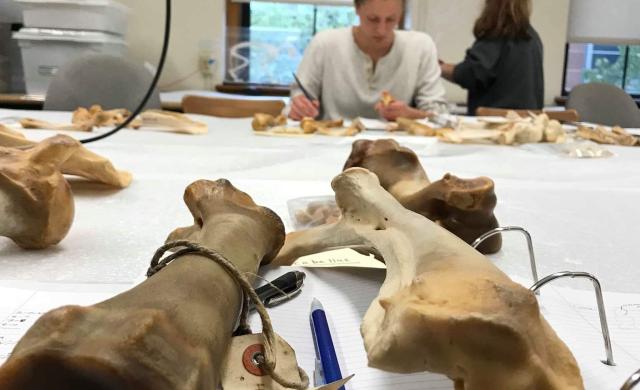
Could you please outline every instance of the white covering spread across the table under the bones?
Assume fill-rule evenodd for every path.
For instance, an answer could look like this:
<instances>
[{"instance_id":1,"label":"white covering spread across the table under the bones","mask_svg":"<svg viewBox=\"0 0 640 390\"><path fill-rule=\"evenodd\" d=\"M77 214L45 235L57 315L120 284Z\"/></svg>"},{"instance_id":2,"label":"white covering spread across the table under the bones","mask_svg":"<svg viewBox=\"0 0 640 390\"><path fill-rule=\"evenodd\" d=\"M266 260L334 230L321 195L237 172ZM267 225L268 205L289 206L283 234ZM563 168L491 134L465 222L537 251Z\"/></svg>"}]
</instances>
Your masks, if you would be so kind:
<instances>
[{"instance_id":1,"label":"white covering spread across the table under the bones","mask_svg":"<svg viewBox=\"0 0 640 390\"><path fill-rule=\"evenodd\" d=\"M0 118L31 116L69 122L70 113L0 110ZM72 184L76 216L57 246L25 251L0 238L0 280L90 283L132 282L154 250L178 226L192 223L182 201L198 179L227 178L257 203L276 211L289 229L288 199L331 194L330 181L349 155L354 138L256 136L249 119L194 116L209 124L204 136L124 130L89 144L119 169L133 173L123 190ZM32 139L52 132L25 131ZM82 138L89 134L74 133ZM358 138L381 138L370 132ZM451 172L496 182L496 215L503 226L528 229L540 276L579 270L598 276L606 291L640 292L640 148L608 147L615 157L570 159L542 145L449 145L395 136L415 150L432 180ZM511 275L530 279L524 238L504 236L491 256ZM590 288L587 282L571 286Z\"/></svg>"}]
</instances>

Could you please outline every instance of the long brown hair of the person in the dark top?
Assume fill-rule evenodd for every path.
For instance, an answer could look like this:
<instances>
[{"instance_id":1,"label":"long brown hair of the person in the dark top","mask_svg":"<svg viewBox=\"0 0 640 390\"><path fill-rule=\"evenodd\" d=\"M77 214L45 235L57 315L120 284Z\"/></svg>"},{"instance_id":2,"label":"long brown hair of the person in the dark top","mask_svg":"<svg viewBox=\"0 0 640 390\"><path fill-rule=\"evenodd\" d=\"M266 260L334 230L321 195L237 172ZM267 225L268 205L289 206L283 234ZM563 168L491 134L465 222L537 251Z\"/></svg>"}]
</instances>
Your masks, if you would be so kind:
<instances>
[{"instance_id":1,"label":"long brown hair of the person in the dark top","mask_svg":"<svg viewBox=\"0 0 640 390\"><path fill-rule=\"evenodd\" d=\"M486 0L473 27L476 39L529 39L531 0Z\"/></svg>"}]
</instances>

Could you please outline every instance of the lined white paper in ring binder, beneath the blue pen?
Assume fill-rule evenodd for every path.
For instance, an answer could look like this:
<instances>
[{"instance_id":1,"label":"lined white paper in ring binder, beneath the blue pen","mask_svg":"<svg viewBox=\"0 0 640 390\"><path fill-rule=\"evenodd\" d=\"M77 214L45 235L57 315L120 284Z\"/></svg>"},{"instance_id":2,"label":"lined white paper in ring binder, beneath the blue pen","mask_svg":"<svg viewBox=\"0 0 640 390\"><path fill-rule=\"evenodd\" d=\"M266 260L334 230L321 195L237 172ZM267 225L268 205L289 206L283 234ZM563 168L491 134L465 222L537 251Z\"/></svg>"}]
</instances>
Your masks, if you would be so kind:
<instances>
[{"instance_id":1,"label":"lined white paper in ring binder, beneath the blue pen","mask_svg":"<svg viewBox=\"0 0 640 390\"><path fill-rule=\"evenodd\" d=\"M264 276L267 279L274 279L290 269L290 267L271 269L266 271ZM308 374L313 373L315 359L308 312L311 300L316 297L325 307L343 375L356 374L346 386L347 390L453 389L452 382L442 375L430 373L398 375L368 367L360 335L360 323L369 304L377 296L384 278L384 270L345 268L301 270L307 274L307 277L300 295L292 301L270 309L270 314L275 331L293 346L298 362ZM591 308L591 305L595 306L595 300L588 299L588 293L588 291L577 292L584 298L584 301L578 304ZM627 305L631 304L630 302L640 302L640 295L625 295L624 302ZM640 351L621 347L640 342L640 335L636 334L638 332L629 330L628 334L619 331L613 333L614 359L617 366L610 367L601 362L605 359L605 352L597 316L585 319L581 313L581 310L585 309L580 309L581 306L573 304L571 299L565 299L554 286L543 288L539 302L545 318L576 357L587 389L619 389L622 383L640 367ZM635 311L638 307L640 305L631 307L634 310L634 321L636 321L635 315L638 315L634 326L640 325L640 310ZM626 316L622 316L622 320L620 318L621 316L611 316L612 329L618 329L629 323L629 318ZM596 321L597 326L594 326L593 321ZM252 318L252 326L254 331L260 329L257 317Z\"/></svg>"}]
</instances>

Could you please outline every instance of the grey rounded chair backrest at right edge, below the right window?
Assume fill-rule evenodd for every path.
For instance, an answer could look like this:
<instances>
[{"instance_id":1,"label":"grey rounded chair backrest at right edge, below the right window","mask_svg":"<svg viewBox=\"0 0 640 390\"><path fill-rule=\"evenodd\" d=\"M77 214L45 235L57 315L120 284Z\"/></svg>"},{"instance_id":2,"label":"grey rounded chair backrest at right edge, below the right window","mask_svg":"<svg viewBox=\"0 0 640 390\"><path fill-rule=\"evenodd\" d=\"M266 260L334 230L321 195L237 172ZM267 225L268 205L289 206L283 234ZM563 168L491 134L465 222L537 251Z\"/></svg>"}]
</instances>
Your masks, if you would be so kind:
<instances>
[{"instance_id":1,"label":"grey rounded chair backrest at right edge, below the right window","mask_svg":"<svg viewBox=\"0 0 640 390\"><path fill-rule=\"evenodd\" d=\"M571 90L567 108L580 113L580 120L606 126L640 127L640 109L631 96L615 85L581 84Z\"/></svg>"}]
</instances>

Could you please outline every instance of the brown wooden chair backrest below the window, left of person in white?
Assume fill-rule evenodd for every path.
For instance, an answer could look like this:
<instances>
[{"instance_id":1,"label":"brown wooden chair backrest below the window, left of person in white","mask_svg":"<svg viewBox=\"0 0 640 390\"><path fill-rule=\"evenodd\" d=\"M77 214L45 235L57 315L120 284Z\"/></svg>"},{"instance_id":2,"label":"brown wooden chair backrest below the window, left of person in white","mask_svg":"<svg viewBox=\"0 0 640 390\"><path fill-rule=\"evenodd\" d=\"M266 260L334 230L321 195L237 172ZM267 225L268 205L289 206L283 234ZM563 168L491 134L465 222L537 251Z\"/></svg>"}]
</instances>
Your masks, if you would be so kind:
<instances>
[{"instance_id":1,"label":"brown wooden chair backrest below the window, left of person in white","mask_svg":"<svg viewBox=\"0 0 640 390\"><path fill-rule=\"evenodd\" d=\"M182 98L182 110L187 114L203 114L222 118L249 118L257 113L280 115L284 101L225 99L187 95Z\"/></svg>"}]
</instances>

